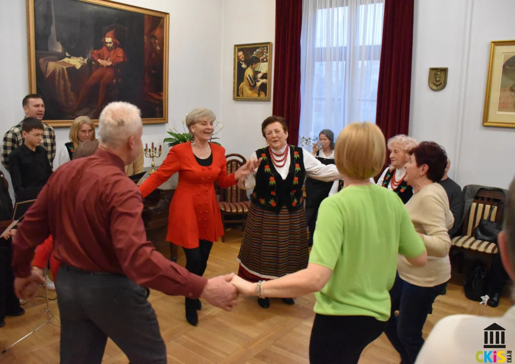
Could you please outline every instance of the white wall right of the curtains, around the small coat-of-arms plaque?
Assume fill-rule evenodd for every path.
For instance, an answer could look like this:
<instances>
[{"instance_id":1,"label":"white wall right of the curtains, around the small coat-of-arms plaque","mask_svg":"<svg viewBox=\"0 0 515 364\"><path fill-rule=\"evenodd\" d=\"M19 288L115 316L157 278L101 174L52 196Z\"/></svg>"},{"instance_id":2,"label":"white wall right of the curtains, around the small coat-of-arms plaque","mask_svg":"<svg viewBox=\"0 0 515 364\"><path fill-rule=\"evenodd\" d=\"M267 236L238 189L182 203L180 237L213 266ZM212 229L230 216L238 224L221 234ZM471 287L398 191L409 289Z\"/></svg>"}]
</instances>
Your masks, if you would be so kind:
<instances>
[{"instance_id":1,"label":"white wall right of the curtains, around the small coat-of-arms plaque","mask_svg":"<svg viewBox=\"0 0 515 364\"><path fill-rule=\"evenodd\" d=\"M515 130L483 127L490 41L515 39L512 0L416 0L410 134L443 145L461 186L508 187ZM449 67L447 87L431 91L430 67Z\"/></svg>"}]
</instances>

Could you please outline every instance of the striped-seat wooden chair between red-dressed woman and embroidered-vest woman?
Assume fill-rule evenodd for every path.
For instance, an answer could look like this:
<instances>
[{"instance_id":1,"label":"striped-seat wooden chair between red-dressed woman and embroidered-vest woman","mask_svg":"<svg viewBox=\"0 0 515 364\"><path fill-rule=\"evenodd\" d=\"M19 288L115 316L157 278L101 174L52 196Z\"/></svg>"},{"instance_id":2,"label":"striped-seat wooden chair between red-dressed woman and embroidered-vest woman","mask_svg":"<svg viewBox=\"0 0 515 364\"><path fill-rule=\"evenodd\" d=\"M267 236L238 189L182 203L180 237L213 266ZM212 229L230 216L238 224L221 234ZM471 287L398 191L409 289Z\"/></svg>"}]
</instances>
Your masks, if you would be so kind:
<instances>
[{"instance_id":1,"label":"striped-seat wooden chair between red-dressed woman and embroidered-vest woman","mask_svg":"<svg viewBox=\"0 0 515 364\"><path fill-rule=\"evenodd\" d=\"M230 159L232 157L234 158ZM240 154L227 154L226 159L228 174L235 172L239 167L247 163L247 160ZM241 159L241 161L238 159ZM245 221L247 220L250 205L245 189L238 188L238 186L222 189L220 191L220 202L218 202L218 205L220 206L224 230L226 222L243 222L243 228L245 228ZM241 216L241 218L226 220L228 215L234 215L235 217ZM225 241L225 235L222 236L222 241Z\"/></svg>"}]
</instances>

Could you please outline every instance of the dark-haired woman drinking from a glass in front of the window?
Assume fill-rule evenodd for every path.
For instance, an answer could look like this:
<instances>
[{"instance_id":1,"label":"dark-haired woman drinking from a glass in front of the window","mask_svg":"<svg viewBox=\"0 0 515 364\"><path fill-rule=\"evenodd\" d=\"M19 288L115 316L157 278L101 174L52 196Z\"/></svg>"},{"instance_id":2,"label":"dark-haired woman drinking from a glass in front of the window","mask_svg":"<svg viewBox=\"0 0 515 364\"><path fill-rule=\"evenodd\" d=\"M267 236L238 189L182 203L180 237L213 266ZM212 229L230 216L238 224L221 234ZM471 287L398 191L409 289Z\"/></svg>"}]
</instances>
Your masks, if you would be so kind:
<instances>
[{"instance_id":1,"label":"dark-haired woman drinking from a glass in front of the window","mask_svg":"<svg viewBox=\"0 0 515 364\"><path fill-rule=\"evenodd\" d=\"M324 129L318 134L318 143L313 145L313 152L316 159L322 164L334 164L334 133L332 130ZM332 182L319 181L313 178L306 178L306 225L310 232L307 245L313 245L313 234L317 222L318 207L322 200L329 196Z\"/></svg>"}]
</instances>

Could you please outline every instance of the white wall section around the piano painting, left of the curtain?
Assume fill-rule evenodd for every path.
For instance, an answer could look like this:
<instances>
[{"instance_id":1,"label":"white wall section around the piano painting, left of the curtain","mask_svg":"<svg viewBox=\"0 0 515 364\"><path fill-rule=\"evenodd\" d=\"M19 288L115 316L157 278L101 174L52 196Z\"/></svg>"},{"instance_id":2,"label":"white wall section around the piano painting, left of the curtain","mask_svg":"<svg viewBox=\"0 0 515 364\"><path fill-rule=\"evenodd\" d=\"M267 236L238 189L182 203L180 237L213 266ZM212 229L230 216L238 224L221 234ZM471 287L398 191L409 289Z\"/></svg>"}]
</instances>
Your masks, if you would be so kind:
<instances>
[{"instance_id":1,"label":"white wall section around the piano painting, left of the curtain","mask_svg":"<svg viewBox=\"0 0 515 364\"><path fill-rule=\"evenodd\" d=\"M235 101L232 99L234 45L272 42L275 53L276 2L260 0L258 8L250 0L225 0L222 19L222 61L219 118L224 124L222 145L228 153L243 154L245 158L265 145L261 123L272 114L272 101ZM249 21L248 14L257 11ZM272 61L272 67L274 62ZM272 78L273 78L272 70ZM272 84L273 88L273 84Z\"/></svg>"}]
</instances>

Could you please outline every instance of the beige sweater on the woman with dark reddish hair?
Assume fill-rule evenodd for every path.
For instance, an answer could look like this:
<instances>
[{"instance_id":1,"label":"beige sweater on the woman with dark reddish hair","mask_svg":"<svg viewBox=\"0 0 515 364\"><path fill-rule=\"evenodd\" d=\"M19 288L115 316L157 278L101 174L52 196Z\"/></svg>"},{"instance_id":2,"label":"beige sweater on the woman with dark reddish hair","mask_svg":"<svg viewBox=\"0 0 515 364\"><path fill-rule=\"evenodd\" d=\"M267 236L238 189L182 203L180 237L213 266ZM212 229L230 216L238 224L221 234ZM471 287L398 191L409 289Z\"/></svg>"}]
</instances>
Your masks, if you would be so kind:
<instances>
[{"instance_id":1,"label":"beige sweater on the woman with dark reddish hair","mask_svg":"<svg viewBox=\"0 0 515 364\"><path fill-rule=\"evenodd\" d=\"M409 199L406 209L415 230L422 234L428 258L425 266L414 267L399 255L399 276L406 282L422 287L449 281L451 238L447 231L453 226L454 217L449 209L447 193L438 183L427 185Z\"/></svg>"}]
</instances>

